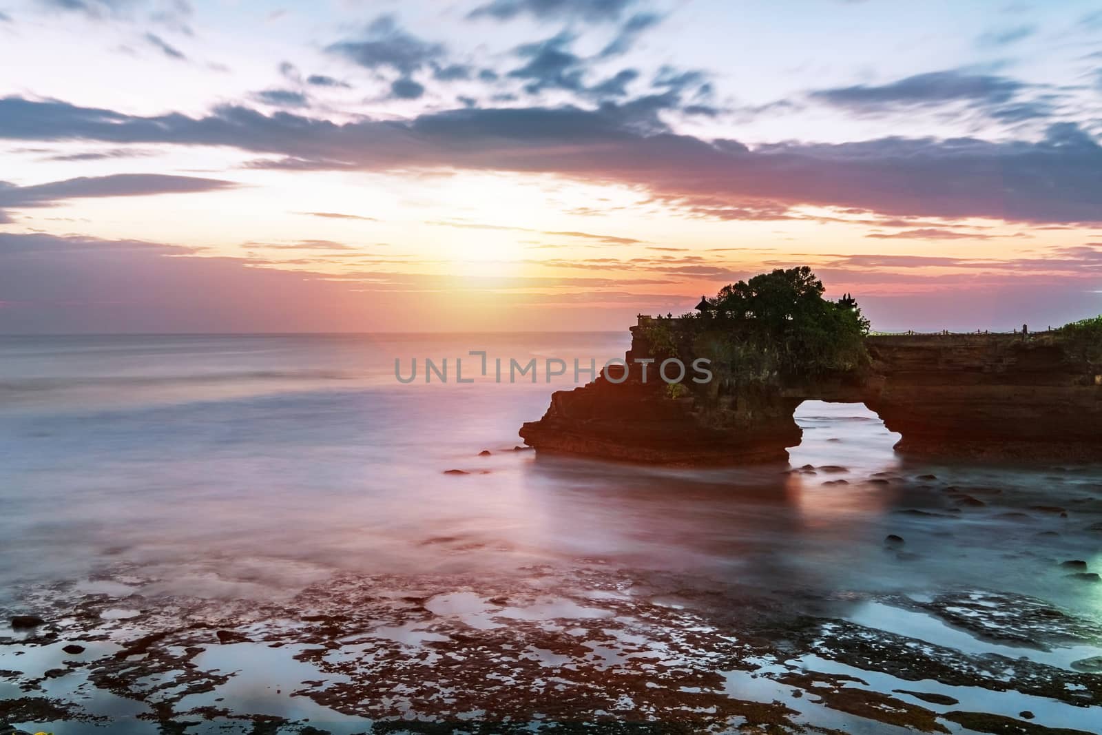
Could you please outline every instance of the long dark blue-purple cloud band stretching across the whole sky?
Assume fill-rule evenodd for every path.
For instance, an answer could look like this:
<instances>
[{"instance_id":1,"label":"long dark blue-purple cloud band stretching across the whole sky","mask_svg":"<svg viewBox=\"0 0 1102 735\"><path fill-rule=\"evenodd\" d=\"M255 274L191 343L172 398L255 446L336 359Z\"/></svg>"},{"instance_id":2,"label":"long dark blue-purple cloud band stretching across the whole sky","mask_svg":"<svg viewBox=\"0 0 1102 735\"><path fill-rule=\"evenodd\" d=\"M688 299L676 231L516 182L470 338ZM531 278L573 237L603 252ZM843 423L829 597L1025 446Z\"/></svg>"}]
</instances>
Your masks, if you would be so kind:
<instances>
[{"instance_id":1,"label":"long dark blue-purple cloud band stretching across the whole sky","mask_svg":"<svg viewBox=\"0 0 1102 735\"><path fill-rule=\"evenodd\" d=\"M1102 221L1102 148L1073 123L1035 141L883 138L750 150L640 127L659 105L457 109L335 123L222 107L130 116L56 100L0 99L0 139L226 145L288 170L458 169L553 173L647 190L701 216L782 218L801 205L893 217ZM649 107L648 107L649 105Z\"/></svg>"}]
</instances>

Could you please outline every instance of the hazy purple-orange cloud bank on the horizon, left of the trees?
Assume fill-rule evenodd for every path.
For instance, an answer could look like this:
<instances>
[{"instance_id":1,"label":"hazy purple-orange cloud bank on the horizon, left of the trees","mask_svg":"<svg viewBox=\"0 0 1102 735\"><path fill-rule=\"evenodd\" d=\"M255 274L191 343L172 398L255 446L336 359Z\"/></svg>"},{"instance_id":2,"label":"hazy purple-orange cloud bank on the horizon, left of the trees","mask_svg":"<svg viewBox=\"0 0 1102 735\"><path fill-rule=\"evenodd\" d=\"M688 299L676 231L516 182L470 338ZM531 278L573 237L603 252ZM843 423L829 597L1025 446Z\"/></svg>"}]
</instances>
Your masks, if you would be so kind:
<instances>
[{"instance_id":1,"label":"hazy purple-orange cloud bank on the horizon, left of the trees","mask_svg":"<svg viewBox=\"0 0 1102 735\"><path fill-rule=\"evenodd\" d=\"M0 233L0 333L409 331L442 313L468 328L500 328L503 315L510 328L552 328L561 327L561 313L519 315L509 307L558 301L657 303L659 298L633 298L627 289L669 283L660 277L603 274L365 270L333 275L311 270L312 263L333 262L335 255L341 253L289 263L204 257L156 242ZM543 293L530 293L536 289ZM601 324L612 328L634 313L625 310ZM586 323L595 323L592 315Z\"/></svg>"}]
</instances>

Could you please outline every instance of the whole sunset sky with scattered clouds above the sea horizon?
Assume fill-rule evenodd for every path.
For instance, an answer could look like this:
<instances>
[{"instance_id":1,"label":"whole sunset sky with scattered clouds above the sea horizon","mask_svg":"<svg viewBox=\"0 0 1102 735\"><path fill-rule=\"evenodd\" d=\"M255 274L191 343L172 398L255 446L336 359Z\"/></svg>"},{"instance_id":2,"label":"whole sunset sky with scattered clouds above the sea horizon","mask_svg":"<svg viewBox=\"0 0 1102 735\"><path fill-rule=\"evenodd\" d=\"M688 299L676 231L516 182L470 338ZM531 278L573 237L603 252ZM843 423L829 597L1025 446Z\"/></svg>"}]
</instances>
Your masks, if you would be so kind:
<instances>
[{"instance_id":1,"label":"whole sunset sky with scattered clouds above the sea horizon","mask_svg":"<svg viewBox=\"0 0 1102 735\"><path fill-rule=\"evenodd\" d=\"M1098 0L0 0L0 334L1039 329L1100 136Z\"/></svg>"}]
</instances>

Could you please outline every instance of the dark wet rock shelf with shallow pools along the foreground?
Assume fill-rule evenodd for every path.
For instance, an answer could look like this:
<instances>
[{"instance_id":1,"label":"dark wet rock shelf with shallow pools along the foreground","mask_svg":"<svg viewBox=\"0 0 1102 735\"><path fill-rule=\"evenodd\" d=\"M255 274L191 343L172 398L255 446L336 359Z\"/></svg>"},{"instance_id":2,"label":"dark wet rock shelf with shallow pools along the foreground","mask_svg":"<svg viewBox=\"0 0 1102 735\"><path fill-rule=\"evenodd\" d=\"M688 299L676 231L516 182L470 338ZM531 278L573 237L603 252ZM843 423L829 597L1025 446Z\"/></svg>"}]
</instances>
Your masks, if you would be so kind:
<instances>
[{"instance_id":1,"label":"dark wet rock shelf with shallow pools along the foreground","mask_svg":"<svg viewBox=\"0 0 1102 735\"><path fill-rule=\"evenodd\" d=\"M1102 707L1102 626L1036 598L792 597L601 560L521 571L495 581L345 574L280 603L30 587L24 602L51 623L0 639L14 688L0 720L110 723L112 733L1031 734L1090 732L1057 725ZM134 570L108 579L158 582ZM968 651L868 627L847 615L861 604L997 645ZM107 614L120 606L141 612ZM65 641L86 650L66 657ZM1072 646L1098 656L1056 666L1039 653ZM102 696L132 714L112 718L97 709ZM981 701L1002 704L985 713ZM1027 709L1042 714L1017 716Z\"/></svg>"}]
</instances>

